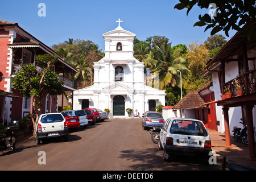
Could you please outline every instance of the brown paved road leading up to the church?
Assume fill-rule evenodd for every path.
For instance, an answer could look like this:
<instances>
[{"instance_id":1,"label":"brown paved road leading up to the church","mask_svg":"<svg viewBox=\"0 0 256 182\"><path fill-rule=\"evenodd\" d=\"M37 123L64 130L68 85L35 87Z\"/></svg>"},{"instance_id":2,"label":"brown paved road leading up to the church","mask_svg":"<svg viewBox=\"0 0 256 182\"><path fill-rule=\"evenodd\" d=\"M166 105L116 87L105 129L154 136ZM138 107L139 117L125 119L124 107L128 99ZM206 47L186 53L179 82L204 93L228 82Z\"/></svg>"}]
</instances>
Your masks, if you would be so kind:
<instances>
[{"instance_id":1,"label":"brown paved road leading up to the church","mask_svg":"<svg viewBox=\"0 0 256 182\"><path fill-rule=\"evenodd\" d=\"M39 151L46 152L46 164L39 164ZM109 119L73 130L68 142L50 140L37 145L34 139L17 144L16 151L0 154L0 170L220 170L203 164L200 158L179 157L163 162L163 151L152 143L141 119ZM41 160L42 161L42 160Z\"/></svg>"}]
</instances>

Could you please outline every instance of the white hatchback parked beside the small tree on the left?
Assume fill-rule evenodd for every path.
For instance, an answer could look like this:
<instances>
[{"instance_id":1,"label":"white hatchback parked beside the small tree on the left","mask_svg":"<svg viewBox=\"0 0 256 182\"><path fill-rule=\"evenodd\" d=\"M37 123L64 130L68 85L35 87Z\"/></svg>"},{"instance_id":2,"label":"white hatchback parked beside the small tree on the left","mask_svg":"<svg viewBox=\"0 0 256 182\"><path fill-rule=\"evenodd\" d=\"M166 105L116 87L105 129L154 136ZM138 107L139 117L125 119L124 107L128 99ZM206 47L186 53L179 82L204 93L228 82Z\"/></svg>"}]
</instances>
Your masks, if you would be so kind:
<instances>
[{"instance_id":1,"label":"white hatchback parked beside the small tree on the left","mask_svg":"<svg viewBox=\"0 0 256 182\"><path fill-rule=\"evenodd\" d=\"M64 137L68 141L68 125L65 118L60 113L41 114L36 124L36 143L41 140L55 137Z\"/></svg>"}]
</instances>

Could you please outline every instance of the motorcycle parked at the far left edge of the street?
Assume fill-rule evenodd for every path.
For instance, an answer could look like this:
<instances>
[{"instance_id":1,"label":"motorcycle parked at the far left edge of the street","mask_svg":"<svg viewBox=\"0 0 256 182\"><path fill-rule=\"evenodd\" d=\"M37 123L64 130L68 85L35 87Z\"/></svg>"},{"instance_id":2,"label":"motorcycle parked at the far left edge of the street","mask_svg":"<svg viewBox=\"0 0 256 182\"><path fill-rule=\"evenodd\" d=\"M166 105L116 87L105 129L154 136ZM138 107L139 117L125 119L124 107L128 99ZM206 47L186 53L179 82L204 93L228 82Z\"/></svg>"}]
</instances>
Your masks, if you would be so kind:
<instances>
[{"instance_id":1,"label":"motorcycle parked at the far left edge of the street","mask_svg":"<svg viewBox=\"0 0 256 182\"><path fill-rule=\"evenodd\" d=\"M13 122L14 124L16 121ZM16 125L9 126L6 129L3 129L0 131L0 150L3 152L3 150L6 150L7 148L11 148L13 151L15 148L15 137L14 132L11 130ZM5 131L4 134L1 134L3 131Z\"/></svg>"}]
</instances>

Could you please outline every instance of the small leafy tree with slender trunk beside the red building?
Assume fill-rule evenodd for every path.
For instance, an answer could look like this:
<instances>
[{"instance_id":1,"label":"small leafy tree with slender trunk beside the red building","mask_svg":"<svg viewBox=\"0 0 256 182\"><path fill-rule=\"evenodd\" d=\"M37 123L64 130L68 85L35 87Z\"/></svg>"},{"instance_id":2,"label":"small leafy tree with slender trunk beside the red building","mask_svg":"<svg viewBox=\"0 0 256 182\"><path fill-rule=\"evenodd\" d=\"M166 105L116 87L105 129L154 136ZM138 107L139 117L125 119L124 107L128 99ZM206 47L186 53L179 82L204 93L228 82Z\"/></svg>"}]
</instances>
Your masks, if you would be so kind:
<instances>
[{"instance_id":1,"label":"small leafy tree with slender trunk beside the red building","mask_svg":"<svg viewBox=\"0 0 256 182\"><path fill-rule=\"evenodd\" d=\"M43 71L36 68L32 64L22 65L19 72L11 82L13 88L19 90L24 97L32 97L32 107L36 114L36 118L32 117L31 120L34 125L38 121L41 113L41 100L44 93L51 95L58 95L64 92L64 82L56 77L56 73L51 71L51 66L56 64L57 57L55 55L38 55L36 56L37 64L44 68ZM35 131L35 130L34 130Z\"/></svg>"}]
</instances>

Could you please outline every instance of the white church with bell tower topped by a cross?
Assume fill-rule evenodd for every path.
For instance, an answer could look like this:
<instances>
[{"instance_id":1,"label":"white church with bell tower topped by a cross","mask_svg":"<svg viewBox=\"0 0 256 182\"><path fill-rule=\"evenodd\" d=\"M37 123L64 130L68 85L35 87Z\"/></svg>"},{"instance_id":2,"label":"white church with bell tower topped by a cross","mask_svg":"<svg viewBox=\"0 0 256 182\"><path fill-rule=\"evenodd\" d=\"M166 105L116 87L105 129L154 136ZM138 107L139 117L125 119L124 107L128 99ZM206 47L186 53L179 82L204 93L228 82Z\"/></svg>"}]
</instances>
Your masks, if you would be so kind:
<instances>
[{"instance_id":1,"label":"white church with bell tower topped by a cross","mask_svg":"<svg viewBox=\"0 0 256 182\"><path fill-rule=\"evenodd\" d=\"M165 104L164 90L144 84L144 63L133 57L136 35L123 30L120 19L117 22L115 30L103 34L105 57L94 62L94 84L75 90L73 109L110 109L110 116L128 117L127 108L142 116L145 111Z\"/></svg>"}]
</instances>

